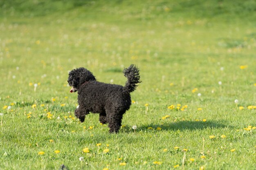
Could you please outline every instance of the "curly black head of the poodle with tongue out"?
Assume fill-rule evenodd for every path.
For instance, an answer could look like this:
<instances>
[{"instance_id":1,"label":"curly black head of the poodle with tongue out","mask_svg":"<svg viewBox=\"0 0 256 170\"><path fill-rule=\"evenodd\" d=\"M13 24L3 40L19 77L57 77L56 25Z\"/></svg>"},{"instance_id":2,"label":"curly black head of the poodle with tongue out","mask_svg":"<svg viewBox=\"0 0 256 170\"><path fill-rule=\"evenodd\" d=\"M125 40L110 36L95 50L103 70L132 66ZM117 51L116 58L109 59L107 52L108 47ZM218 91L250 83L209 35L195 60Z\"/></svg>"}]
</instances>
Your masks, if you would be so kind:
<instances>
[{"instance_id":1,"label":"curly black head of the poodle with tongue out","mask_svg":"<svg viewBox=\"0 0 256 170\"><path fill-rule=\"evenodd\" d=\"M95 81L94 75L86 68L76 68L68 74L67 82L71 86L70 92L76 92L79 86L88 81Z\"/></svg>"}]
</instances>

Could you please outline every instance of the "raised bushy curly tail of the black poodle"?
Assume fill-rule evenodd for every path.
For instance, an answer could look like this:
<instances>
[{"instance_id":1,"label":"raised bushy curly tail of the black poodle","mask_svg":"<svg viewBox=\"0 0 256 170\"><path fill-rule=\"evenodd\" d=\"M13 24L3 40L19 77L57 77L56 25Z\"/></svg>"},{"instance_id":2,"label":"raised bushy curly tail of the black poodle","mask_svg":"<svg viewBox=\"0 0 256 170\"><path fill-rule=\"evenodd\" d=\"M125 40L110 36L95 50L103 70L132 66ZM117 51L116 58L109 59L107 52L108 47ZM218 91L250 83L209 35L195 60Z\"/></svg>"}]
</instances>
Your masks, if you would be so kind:
<instances>
[{"instance_id":1,"label":"raised bushy curly tail of the black poodle","mask_svg":"<svg viewBox=\"0 0 256 170\"><path fill-rule=\"evenodd\" d=\"M123 73L127 78L124 90L129 93L135 91L136 87L138 86L136 84L141 82L139 81L139 69L134 64L131 64L128 68L124 68Z\"/></svg>"}]
</instances>

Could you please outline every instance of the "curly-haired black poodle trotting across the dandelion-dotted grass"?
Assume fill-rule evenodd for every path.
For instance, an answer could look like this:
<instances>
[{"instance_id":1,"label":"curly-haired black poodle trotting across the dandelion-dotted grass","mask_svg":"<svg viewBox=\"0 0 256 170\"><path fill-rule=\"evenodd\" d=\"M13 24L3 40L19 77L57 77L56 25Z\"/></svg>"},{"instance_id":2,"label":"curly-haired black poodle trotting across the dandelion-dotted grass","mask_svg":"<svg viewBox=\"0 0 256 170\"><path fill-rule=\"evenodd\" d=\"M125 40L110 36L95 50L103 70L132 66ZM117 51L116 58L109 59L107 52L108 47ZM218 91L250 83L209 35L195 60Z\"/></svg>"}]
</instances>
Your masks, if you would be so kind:
<instances>
[{"instance_id":1,"label":"curly-haired black poodle trotting across the dandelion-dotted grass","mask_svg":"<svg viewBox=\"0 0 256 170\"><path fill-rule=\"evenodd\" d=\"M78 92L79 107L75 115L81 122L85 115L99 113L99 121L108 123L109 132L118 132L126 110L130 108L130 93L135 91L139 81L139 69L131 64L124 68L127 77L125 86L98 82L86 68L76 68L69 73L67 82L72 86L70 92Z\"/></svg>"}]
</instances>

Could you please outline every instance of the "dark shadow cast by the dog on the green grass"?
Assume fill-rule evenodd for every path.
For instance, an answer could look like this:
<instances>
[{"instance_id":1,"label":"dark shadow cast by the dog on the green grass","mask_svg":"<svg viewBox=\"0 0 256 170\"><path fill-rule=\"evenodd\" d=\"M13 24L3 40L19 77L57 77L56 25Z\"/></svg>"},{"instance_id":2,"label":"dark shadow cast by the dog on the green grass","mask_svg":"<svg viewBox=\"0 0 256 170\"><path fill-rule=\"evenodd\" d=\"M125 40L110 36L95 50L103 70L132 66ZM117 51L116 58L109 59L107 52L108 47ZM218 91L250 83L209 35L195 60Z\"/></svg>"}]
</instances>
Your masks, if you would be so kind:
<instances>
[{"instance_id":1,"label":"dark shadow cast by the dog on the green grass","mask_svg":"<svg viewBox=\"0 0 256 170\"><path fill-rule=\"evenodd\" d=\"M161 128L161 130L201 130L206 128L231 128L231 126L218 123L216 121L176 121L176 122L166 122L164 124L144 124L142 126L138 126L137 130L148 131L148 130L157 130L157 128ZM132 127L125 126L123 128L123 132L134 131ZM158 131L158 130L157 130Z\"/></svg>"}]
</instances>

